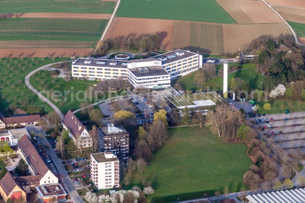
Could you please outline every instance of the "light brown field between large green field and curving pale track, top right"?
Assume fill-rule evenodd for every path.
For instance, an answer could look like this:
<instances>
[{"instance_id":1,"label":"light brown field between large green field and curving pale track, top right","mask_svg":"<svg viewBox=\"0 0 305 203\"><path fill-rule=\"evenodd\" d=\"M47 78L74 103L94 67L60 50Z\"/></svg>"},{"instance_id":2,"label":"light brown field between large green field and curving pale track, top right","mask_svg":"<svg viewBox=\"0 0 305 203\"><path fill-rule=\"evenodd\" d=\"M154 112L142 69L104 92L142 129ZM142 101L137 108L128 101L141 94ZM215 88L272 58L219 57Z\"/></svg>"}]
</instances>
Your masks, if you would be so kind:
<instances>
[{"instance_id":1,"label":"light brown field between large green field and curving pale track, top right","mask_svg":"<svg viewBox=\"0 0 305 203\"><path fill-rule=\"evenodd\" d=\"M239 24L282 23L283 21L262 1L216 0Z\"/></svg>"}]
</instances>

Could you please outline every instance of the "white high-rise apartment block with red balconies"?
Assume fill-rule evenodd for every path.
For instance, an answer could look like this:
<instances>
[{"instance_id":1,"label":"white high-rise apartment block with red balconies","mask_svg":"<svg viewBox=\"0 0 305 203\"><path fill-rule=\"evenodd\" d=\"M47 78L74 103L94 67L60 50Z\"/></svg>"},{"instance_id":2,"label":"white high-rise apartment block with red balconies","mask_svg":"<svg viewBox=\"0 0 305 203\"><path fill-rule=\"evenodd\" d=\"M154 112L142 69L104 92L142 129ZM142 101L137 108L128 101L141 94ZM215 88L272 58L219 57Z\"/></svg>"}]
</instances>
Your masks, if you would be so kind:
<instances>
[{"instance_id":1,"label":"white high-rise apartment block with red balconies","mask_svg":"<svg viewBox=\"0 0 305 203\"><path fill-rule=\"evenodd\" d=\"M101 189L119 187L119 159L112 152L91 154L91 178L95 186Z\"/></svg>"}]
</instances>

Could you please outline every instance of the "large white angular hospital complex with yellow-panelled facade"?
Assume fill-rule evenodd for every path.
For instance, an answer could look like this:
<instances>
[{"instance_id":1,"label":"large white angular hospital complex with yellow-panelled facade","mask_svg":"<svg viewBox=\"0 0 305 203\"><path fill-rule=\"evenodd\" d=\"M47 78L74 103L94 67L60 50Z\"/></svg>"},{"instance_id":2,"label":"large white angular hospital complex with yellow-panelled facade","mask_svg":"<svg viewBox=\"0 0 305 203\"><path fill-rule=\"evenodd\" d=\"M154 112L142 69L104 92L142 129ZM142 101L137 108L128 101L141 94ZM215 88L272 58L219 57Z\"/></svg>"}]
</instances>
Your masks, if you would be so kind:
<instances>
[{"instance_id":1,"label":"large white angular hospital complex with yellow-panelled facade","mask_svg":"<svg viewBox=\"0 0 305 203\"><path fill-rule=\"evenodd\" d=\"M170 87L170 80L202 67L202 56L193 52L175 50L148 59L117 60L79 58L72 64L73 77L89 80L128 80L135 88Z\"/></svg>"}]
</instances>

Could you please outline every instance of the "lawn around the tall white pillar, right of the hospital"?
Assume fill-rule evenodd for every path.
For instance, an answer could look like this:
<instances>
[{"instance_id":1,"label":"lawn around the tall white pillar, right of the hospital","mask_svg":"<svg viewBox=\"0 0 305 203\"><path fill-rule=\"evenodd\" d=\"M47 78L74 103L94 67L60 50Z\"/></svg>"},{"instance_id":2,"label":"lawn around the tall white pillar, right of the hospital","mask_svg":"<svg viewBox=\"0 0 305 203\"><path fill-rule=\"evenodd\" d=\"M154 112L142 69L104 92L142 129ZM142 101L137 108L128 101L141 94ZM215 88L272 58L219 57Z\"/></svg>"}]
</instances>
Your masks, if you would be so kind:
<instances>
[{"instance_id":1,"label":"lawn around the tall white pillar, right of the hospital","mask_svg":"<svg viewBox=\"0 0 305 203\"><path fill-rule=\"evenodd\" d=\"M252 63L248 64L238 64L238 63L229 63L229 66L239 66L241 69L234 73L228 74L228 87L230 86L230 80L232 78L240 77L243 80L247 80L250 83L250 87L255 89L260 84L260 81L264 79L264 76L255 71L255 65ZM217 66L217 69L223 69L223 65ZM187 76L178 78L177 80L172 80L171 85L180 84L185 90L196 91L199 89L208 90L208 91L219 91L223 87L223 77L215 77L210 80L206 80L206 83L200 86L200 84L194 83L194 73L191 73Z\"/></svg>"}]
</instances>

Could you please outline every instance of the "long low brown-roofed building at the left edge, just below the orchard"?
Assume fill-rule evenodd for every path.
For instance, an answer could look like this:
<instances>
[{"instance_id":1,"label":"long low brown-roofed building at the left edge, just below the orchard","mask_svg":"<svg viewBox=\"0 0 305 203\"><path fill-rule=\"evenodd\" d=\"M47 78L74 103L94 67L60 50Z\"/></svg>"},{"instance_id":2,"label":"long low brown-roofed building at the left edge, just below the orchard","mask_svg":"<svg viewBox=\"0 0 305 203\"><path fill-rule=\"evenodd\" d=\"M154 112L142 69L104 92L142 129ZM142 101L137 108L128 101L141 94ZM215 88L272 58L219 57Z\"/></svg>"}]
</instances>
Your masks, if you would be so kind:
<instances>
[{"instance_id":1,"label":"long low brown-roofed building at the left edge, just below the orchard","mask_svg":"<svg viewBox=\"0 0 305 203\"><path fill-rule=\"evenodd\" d=\"M39 115L0 118L0 129L15 126L30 126L39 122Z\"/></svg>"}]
</instances>

